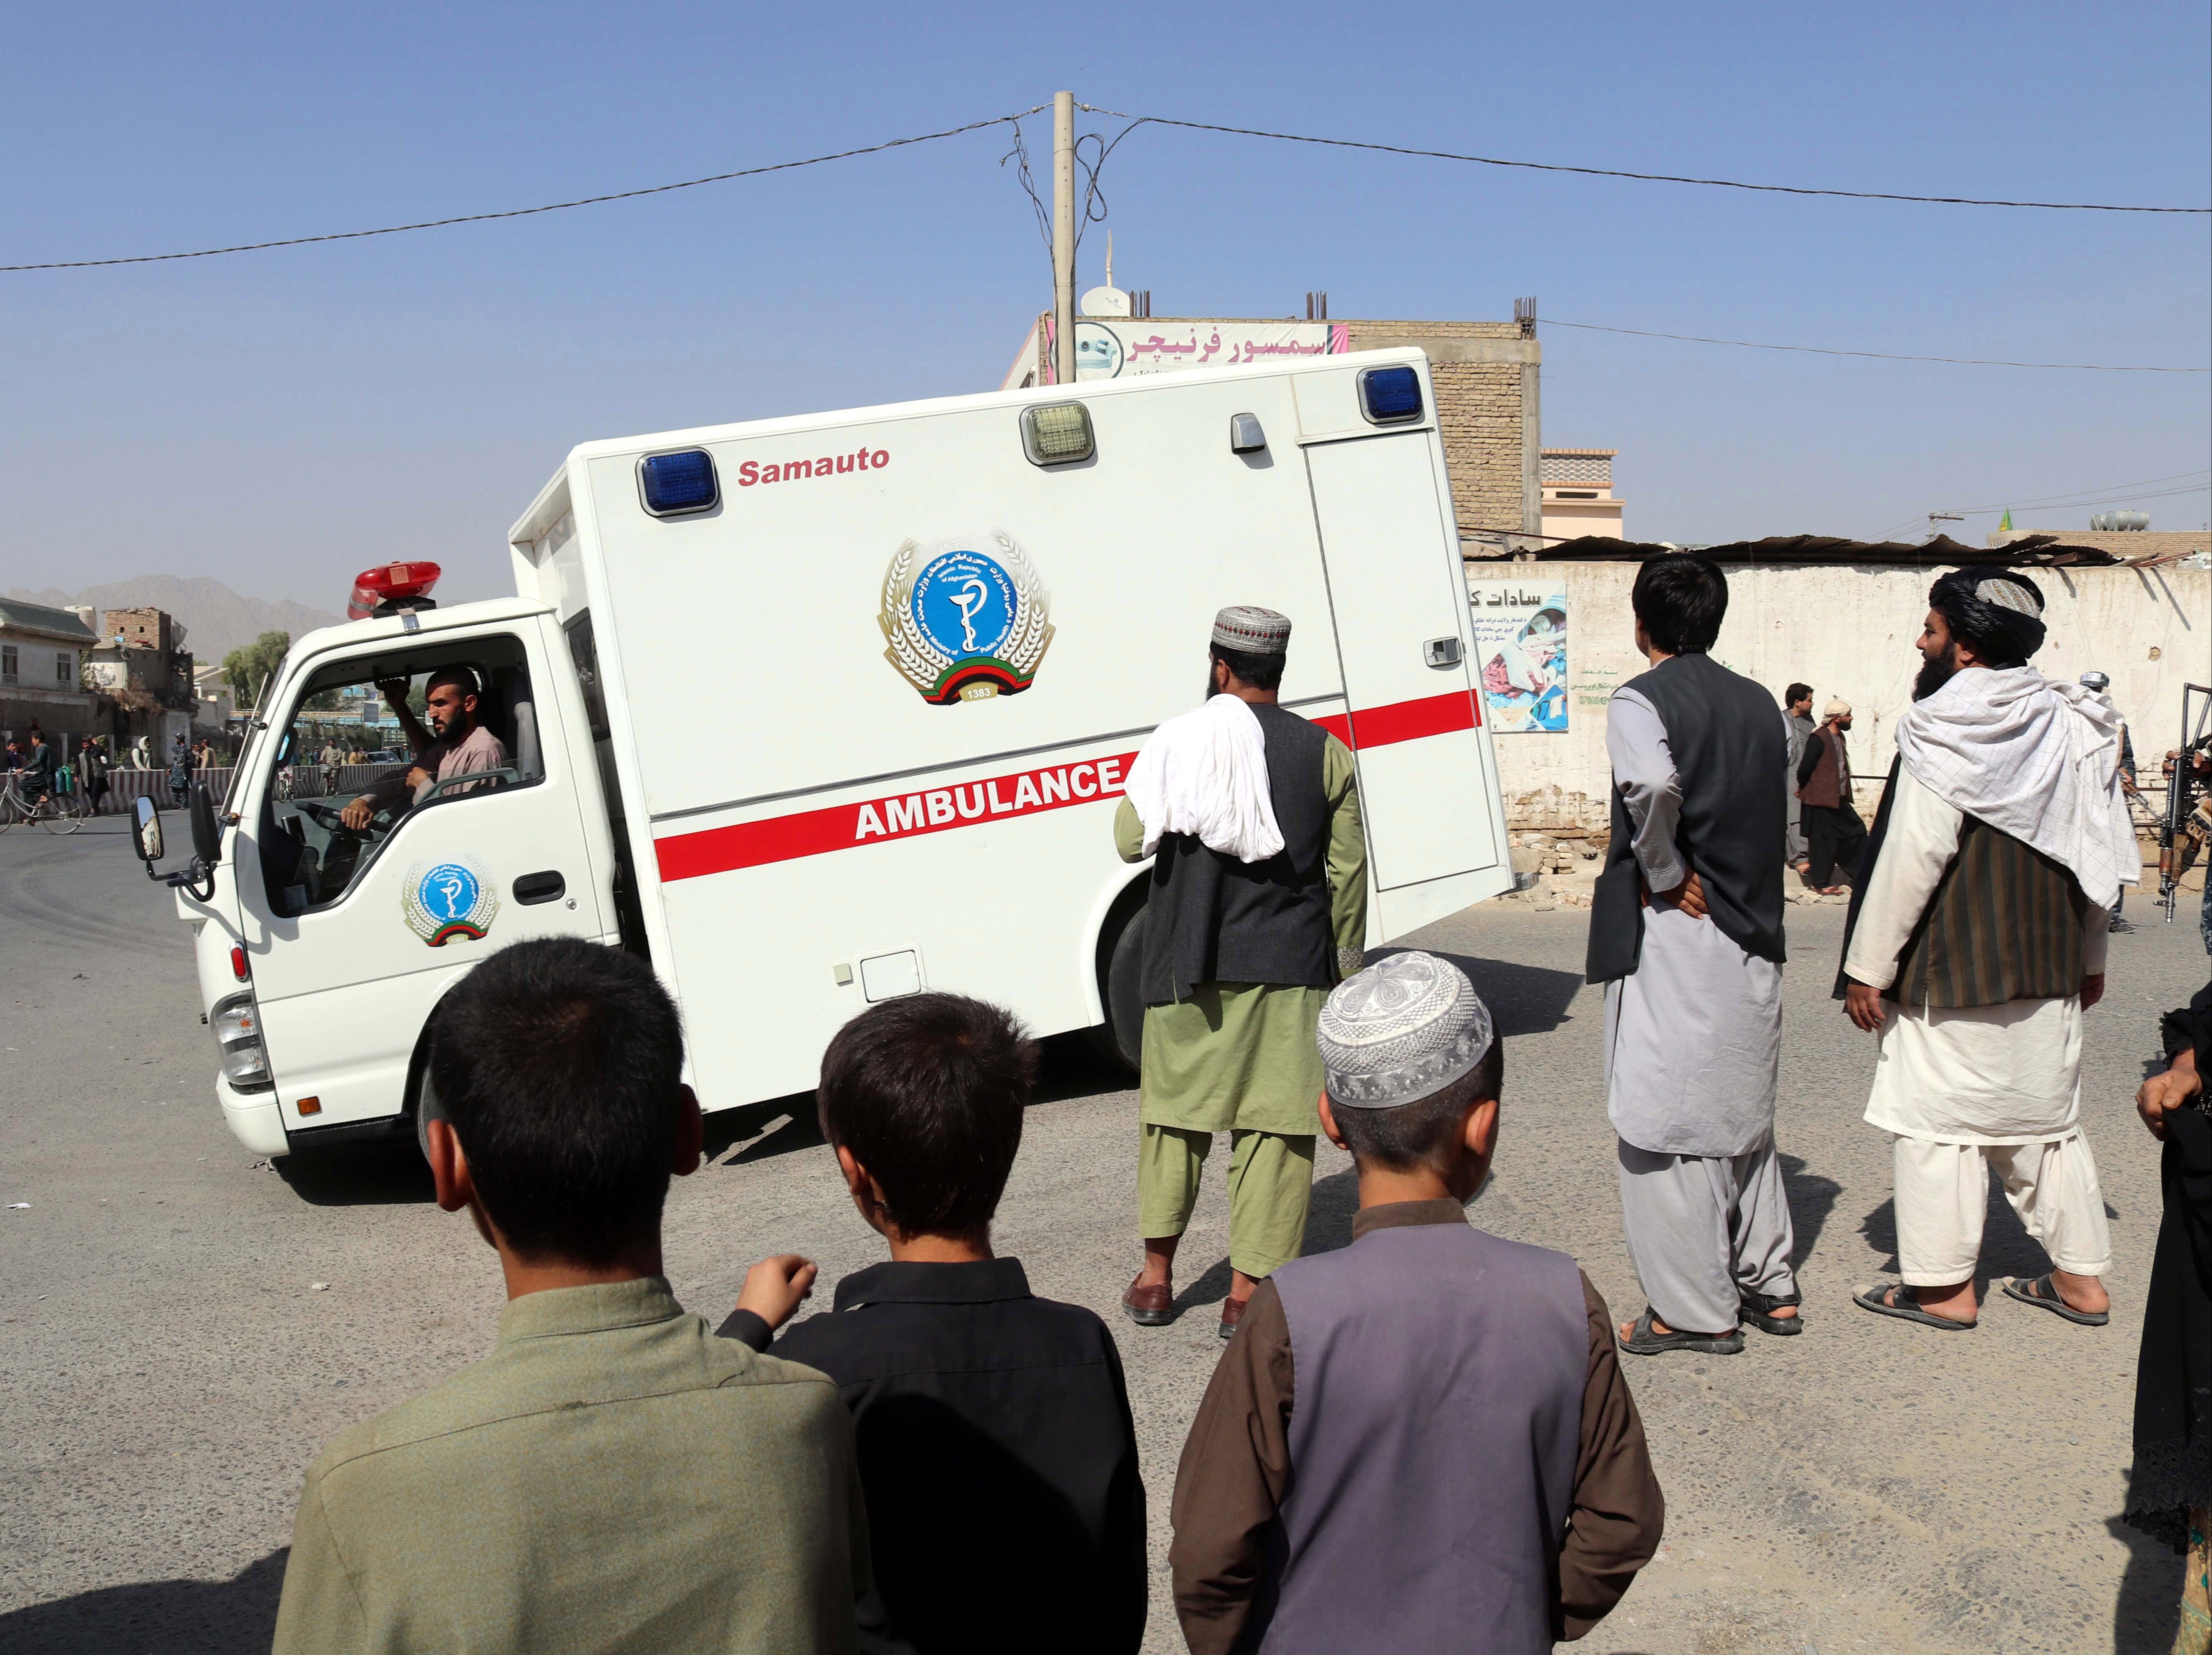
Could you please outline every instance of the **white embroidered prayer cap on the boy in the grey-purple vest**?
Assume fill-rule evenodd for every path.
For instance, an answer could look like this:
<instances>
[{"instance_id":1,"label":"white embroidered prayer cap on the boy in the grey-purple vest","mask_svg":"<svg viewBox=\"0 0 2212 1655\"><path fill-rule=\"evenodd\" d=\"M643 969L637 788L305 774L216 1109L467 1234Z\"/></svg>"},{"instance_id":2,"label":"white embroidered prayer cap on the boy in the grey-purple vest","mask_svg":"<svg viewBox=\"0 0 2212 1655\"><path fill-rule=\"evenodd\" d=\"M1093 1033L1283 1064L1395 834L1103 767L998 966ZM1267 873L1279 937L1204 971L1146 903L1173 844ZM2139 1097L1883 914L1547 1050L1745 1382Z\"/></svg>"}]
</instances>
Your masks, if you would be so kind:
<instances>
[{"instance_id":1,"label":"white embroidered prayer cap on the boy in the grey-purple vest","mask_svg":"<svg viewBox=\"0 0 2212 1655\"><path fill-rule=\"evenodd\" d=\"M1491 1009L1451 960L1391 954L1345 978L1321 1007L1321 1066L1336 1108L1433 1097L1491 1049Z\"/></svg>"}]
</instances>

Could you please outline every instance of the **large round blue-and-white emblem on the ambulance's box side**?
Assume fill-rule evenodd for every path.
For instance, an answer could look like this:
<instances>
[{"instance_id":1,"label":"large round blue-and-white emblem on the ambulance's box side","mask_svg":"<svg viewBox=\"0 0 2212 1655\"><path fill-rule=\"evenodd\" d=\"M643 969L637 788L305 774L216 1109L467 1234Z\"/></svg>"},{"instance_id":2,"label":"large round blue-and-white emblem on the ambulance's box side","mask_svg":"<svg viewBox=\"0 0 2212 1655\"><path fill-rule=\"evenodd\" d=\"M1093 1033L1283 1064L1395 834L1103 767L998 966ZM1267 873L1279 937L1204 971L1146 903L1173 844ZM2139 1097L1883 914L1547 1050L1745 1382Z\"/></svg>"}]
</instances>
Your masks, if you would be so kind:
<instances>
[{"instance_id":1,"label":"large round blue-and-white emblem on the ambulance's box side","mask_svg":"<svg viewBox=\"0 0 2212 1655\"><path fill-rule=\"evenodd\" d=\"M883 653L931 706L1020 695L1053 646L1051 593L1004 529L909 540L883 575Z\"/></svg>"}]
</instances>

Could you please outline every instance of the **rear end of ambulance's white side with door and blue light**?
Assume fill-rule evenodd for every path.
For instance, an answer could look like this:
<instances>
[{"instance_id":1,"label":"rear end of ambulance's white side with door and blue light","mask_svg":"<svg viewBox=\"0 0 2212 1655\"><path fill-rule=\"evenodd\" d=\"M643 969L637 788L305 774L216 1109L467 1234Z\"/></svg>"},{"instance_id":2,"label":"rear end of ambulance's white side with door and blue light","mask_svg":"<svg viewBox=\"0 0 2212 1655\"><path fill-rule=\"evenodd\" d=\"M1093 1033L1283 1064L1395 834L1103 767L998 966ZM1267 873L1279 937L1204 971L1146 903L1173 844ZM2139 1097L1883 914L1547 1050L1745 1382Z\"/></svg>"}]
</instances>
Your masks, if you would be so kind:
<instances>
[{"instance_id":1,"label":"rear end of ambulance's white side with door and blue light","mask_svg":"<svg viewBox=\"0 0 2212 1655\"><path fill-rule=\"evenodd\" d=\"M1296 385L1347 697L1343 728L1323 724L1358 759L1374 945L1511 889L1513 872L1427 372L1422 416L1398 427L1365 418L1360 372Z\"/></svg>"}]
</instances>

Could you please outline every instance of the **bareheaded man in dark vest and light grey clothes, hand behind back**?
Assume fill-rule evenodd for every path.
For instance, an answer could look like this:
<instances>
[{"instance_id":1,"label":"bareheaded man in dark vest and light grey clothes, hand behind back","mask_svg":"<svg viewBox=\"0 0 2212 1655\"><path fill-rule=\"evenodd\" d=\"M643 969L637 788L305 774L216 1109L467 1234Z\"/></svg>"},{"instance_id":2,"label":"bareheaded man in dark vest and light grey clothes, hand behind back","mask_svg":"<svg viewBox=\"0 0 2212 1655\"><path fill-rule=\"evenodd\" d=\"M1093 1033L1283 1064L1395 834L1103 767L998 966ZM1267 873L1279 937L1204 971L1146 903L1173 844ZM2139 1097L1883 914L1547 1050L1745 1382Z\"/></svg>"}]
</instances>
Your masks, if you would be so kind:
<instances>
[{"instance_id":1,"label":"bareheaded man in dark vest and light grey clothes, hand behind back","mask_svg":"<svg viewBox=\"0 0 2212 1655\"><path fill-rule=\"evenodd\" d=\"M1710 558L1637 571L1652 664L1606 708L1613 841L1590 901L1606 985L1606 1113L1646 1310L1621 1350L1743 1350L1794 1334L1794 1237L1774 1155L1783 1038L1783 768L1774 699L1708 655L1728 613Z\"/></svg>"}]
</instances>

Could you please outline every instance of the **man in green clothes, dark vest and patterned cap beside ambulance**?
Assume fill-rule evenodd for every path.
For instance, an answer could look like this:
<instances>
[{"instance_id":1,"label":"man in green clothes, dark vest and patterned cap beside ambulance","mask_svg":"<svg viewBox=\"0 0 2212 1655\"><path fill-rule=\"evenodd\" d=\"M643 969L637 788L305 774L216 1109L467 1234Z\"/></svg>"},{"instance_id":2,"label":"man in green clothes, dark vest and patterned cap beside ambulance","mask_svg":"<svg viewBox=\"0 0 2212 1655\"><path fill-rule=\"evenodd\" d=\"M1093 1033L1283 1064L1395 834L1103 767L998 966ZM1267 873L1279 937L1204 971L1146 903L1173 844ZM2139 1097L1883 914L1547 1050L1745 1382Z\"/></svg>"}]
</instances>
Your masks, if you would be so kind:
<instances>
[{"instance_id":1,"label":"man in green clothes, dark vest and patterned cap beside ambulance","mask_svg":"<svg viewBox=\"0 0 2212 1655\"><path fill-rule=\"evenodd\" d=\"M1137 1206L1144 1270L1121 1294L1146 1328L1175 1321L1175 1248L1214 1133L1230 1133L1230 1294L1305 1246L1321 1122L1314 1024L1360 969L1367 836L1352 752L1276 706L1290 622L1239 604L1214 617L1206 701L1159 726L1115 814L1121 861L1152 856L1144 909Z\"/></svg>"}]
</instances>

